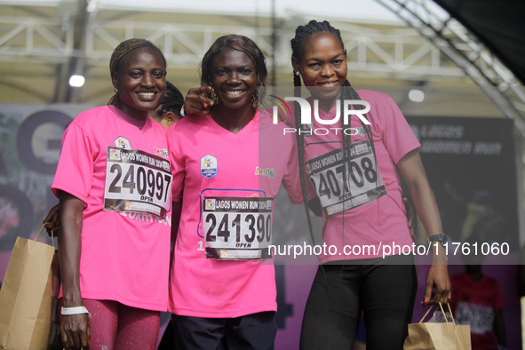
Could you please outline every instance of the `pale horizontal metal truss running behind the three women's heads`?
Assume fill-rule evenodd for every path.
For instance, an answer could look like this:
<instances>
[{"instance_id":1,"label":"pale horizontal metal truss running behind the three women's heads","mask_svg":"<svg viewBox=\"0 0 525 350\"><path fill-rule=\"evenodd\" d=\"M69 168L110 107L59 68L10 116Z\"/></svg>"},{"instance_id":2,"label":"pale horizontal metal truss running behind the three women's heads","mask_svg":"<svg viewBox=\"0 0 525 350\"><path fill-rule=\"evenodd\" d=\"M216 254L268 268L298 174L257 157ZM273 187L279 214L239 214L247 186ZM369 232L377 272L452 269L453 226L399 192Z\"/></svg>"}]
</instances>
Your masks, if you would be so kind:
<instances>
[{"instance_id":1,"label":"pale horizontal metal truss running behind the three women's heads","mask_svg":"<svg viewBox=\"0 0 525 350\"><path fill-rule=\"evenodd\" d=\"M290 67L290 26L296 20L280 20L275 50L278 67ZM350 68L378 76L401 74L411 79L433 76L445 81L463 80L461 69L442 60L439 50L418 37L411 29L384 25L378 30L367 26L338 22L349 53ZM12 27L11 30L7 30ZM272 28L206 26L201 24L154 23L133 21L91 21L85 29L85 47L74 47L74 28L62 31L62 20L0 16L0 61L64 63L69 57L83 57L91 65L107 65L115 45L126 38L141 35L160 44L166 59L177 66L195 65L212 40L236 33L250 36L267 57L272 57ZM38 36L38 44L36 37ZM354 56L353 56L354 55ZM271 59L270 59L271 60ZM441 76L441 78L435 78Z\"/></svg>"}]
</instances>

